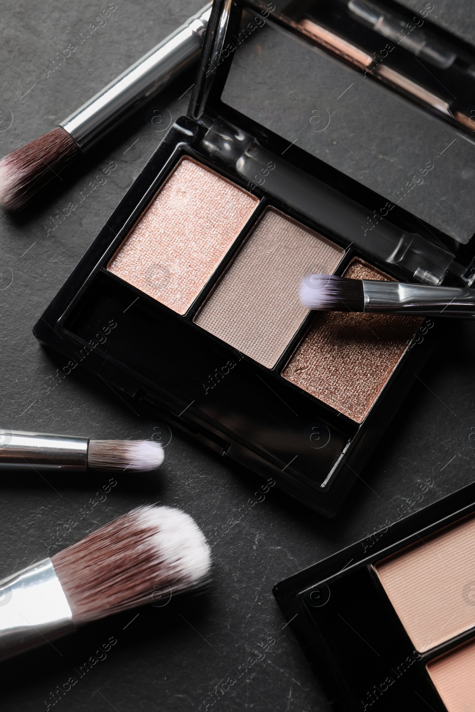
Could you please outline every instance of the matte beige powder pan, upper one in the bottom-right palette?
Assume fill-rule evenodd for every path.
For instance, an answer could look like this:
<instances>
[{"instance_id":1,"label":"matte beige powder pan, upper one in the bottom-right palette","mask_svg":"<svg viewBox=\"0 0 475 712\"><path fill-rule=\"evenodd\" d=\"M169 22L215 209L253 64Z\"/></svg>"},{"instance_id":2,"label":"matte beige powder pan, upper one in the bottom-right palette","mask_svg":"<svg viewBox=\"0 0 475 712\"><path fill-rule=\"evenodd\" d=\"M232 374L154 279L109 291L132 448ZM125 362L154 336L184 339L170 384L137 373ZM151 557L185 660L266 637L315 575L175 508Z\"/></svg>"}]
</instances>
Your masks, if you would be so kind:
<instances>
[{"instance_id":1,"label":"matte beige powder pan, upper one in the bottom-right palette","mask_svg":"<svg viewBox=\"0 0 475 712\"><path fill-rule=\"evenodd\" d=\"M475 626L475 517L375 565L416 650Z\"/></svg>"}]
</instances>

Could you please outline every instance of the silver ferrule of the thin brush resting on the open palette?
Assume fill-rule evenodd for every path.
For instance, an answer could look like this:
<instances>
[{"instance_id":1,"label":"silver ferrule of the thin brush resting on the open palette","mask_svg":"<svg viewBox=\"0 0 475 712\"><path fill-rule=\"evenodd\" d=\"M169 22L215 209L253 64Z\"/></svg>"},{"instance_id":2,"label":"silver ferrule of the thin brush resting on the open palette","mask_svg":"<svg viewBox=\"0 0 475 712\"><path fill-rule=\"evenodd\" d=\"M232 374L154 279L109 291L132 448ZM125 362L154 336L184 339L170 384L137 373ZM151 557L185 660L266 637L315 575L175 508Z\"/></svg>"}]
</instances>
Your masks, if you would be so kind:
<instances>
[{"instance_id":1,"label":"silver ferrule of the thin brush resting on the open palette","mask_svg":"<svg viewBox=\"0 0 475 712\"><path fill-rule=\"evenodd\" d=\"M365 312L475 316L475 290L362 280Z\"/></svg>"}]
</instances>

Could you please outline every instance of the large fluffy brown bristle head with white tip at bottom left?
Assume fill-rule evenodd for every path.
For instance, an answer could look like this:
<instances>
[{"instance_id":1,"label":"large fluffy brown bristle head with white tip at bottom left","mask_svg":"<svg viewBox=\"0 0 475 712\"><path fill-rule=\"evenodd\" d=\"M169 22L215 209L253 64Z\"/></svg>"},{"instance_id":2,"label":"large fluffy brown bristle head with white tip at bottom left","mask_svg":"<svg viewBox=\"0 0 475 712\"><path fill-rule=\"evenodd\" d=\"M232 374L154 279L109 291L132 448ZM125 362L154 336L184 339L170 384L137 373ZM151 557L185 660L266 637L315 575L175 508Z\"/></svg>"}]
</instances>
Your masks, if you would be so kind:
<instances>
[{"instance_id":1,"label":"large fluffy brown bristle head with white tip at bottom left","mask_svg":"<svg viewBox=\"0 0 475 712\"><path fill-rule=\"evenodd\" d=\"M204 534L179 509L146 505L51 557L76 625L209 581Z\"/></svg>"}]
</instances>

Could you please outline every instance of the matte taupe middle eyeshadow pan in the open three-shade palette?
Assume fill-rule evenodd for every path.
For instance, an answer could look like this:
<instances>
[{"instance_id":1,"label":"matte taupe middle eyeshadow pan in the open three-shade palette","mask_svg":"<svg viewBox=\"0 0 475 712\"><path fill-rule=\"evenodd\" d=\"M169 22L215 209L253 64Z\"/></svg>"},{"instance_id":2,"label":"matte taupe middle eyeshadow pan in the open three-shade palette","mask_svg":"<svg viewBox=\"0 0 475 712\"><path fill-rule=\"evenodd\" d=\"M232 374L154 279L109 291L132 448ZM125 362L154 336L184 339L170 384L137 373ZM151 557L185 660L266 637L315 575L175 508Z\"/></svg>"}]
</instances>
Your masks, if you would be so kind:
<instances>
[{"instance_id":1,"label":"matte taupe middle eyeshadow pan in the open three-shade palette","mask_svg":"<svg viewBox=\"0 0 475 712\"><path fill-rule=\"evenodd\" d=\"M332 274L343 249L267 209L195 322L272 368L308 310L298 300L301 277Z\"/></svg>"}]
</instances>

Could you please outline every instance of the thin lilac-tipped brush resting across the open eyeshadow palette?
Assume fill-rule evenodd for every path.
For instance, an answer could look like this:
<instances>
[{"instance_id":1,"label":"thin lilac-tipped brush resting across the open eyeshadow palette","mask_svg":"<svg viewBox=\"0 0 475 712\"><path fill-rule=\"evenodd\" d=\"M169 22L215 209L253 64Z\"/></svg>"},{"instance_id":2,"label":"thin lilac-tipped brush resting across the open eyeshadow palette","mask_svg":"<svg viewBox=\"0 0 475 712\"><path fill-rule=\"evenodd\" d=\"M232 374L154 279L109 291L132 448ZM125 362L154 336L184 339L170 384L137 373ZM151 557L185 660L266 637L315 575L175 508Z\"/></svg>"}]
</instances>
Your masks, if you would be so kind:
<instances>
[{"instance_id":1,"label":"thin lilac-tipped brush resting across the open eyeshadow palette","mask_svg":"<svg viewBox=\"0 0 475 712\"><path fill-rule=\"evenodd\" d=\"M475 290L310 274L301 304L321 311L475 317Z\"/></svg>"}]
</instances>

